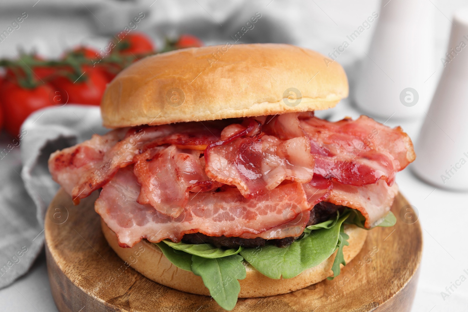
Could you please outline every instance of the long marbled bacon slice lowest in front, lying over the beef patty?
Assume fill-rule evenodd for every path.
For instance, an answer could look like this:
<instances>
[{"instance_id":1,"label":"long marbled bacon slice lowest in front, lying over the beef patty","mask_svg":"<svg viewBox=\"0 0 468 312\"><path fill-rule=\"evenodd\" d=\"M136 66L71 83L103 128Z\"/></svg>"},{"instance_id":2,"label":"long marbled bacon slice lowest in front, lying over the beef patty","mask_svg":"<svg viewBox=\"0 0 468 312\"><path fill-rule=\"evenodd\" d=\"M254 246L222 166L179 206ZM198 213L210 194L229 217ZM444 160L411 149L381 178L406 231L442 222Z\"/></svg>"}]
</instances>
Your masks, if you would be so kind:
<instances>
[{"instance_id":1,"label":"long marbled bacon slice lowest in front, lying over the beef patty","mask_svg":"<svg viewBox=\"0 0 468 312\"><path fill-rule=\"evenodd\" d=\"M300 183L290 182L255 199L241 196L232 187L191 193L184 212L173 218L137 203L140 187L130 167L119 169L95 202L96 212L117 234L121 247L132 247L143 238L179 241L183 234L194 232L227 237L258 234L310 210ZM291 210L286 214L287 208Z\"/></svg>"}]
</instances>

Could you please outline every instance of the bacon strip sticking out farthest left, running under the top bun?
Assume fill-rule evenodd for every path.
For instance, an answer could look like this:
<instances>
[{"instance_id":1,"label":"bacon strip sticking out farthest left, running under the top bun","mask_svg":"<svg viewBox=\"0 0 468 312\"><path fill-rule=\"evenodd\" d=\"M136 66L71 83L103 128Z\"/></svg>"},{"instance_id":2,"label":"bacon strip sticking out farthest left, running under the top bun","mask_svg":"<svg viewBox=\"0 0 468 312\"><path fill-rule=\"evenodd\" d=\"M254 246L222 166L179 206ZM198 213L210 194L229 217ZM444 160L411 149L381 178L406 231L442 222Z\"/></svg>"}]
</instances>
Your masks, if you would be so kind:
<instances>
[{"instance_id":1,"label":"bacon strip sticking out farthest left, running under the top bun","mask_svg":"<svg viewBox=\"0 0 468 312\"><path fill-rule=\"evenodd\" d=\"M79 203L152 145L170 142L185 148L205 148L217 140L216 134L219 137L219 129L200 123L117 129L102 136L95 134L90 140L52 153L49 171L52 179Z\"/></svg>"}]
</instances>

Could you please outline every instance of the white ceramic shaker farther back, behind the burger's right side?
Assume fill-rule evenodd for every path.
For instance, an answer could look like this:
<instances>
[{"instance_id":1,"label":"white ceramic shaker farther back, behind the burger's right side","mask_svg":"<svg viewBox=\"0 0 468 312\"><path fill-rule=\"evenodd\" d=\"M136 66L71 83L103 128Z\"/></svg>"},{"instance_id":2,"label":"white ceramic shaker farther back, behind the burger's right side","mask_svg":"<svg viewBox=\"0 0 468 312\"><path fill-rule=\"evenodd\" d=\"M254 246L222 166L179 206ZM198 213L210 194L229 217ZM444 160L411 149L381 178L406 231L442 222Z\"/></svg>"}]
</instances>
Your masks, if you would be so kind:
<instances>
[{"instance_id":1,"label":"white ceramic shaker farther back, behind the burger's right side","mask_svg":"<svg viewBox=\"0 0 468 312\"><path fill-rule=\"evenodd\" d=\"M382 0L354 94L359 109L387 119L424 115L435 87L434 6Z\"/></svg>"}]
</instances>

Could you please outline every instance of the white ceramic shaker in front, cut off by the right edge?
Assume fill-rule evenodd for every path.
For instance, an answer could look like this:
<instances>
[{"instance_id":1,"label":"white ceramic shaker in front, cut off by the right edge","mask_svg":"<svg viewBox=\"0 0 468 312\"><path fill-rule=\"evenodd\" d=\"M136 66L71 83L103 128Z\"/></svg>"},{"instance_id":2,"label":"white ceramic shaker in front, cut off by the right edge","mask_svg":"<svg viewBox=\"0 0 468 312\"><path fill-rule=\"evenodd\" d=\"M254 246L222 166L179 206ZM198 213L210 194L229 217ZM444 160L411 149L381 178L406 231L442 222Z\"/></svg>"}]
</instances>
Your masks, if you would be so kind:
<instances>
[{"instance_id":1,"label":"white ceramic shaker in front, cut off by the right edge","mask_svg":"<svg viewBox=\"0 0 468 312\"><path fill-rule=\"evenodd\" d=\"M468 190L468 8L454 14L453 24L412 169L436 186Z\"/></svg>"}]
</instances>

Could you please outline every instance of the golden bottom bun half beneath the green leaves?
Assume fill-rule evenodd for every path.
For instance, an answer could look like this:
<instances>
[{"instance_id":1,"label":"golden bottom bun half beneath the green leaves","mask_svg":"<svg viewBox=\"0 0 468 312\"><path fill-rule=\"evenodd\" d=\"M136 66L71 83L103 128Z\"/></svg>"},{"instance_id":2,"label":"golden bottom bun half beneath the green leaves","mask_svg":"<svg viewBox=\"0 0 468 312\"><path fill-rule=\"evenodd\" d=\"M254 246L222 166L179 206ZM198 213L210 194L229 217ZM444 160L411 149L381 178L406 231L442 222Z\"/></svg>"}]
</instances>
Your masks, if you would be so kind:
<instances>
[{"instance_id":1,"label":"golden bottom bun half beneath the green leaves","mask_svg":"<svg viewBox=\"0 0 468 312\"><path fill-rule=\"evenodd\" d=\"M130 265L147 278L176 290L199 295L210 295L200 276L177 268L162 254L156 245L143 239L132 248L119 247L117 235L112 232L102 219L101 226L104 237L109 242L110 247L123 260L130 263L129 259L134 259L132 256L135 252L142 251L143 249L141 248L144 248L144 251L139 253L138 261ZM348 239L350 245L343 247L344 260L348 263L359 253L364 245L367 231L356 225L344 225L344 232L350 236ZM274 296L318 283L326 277L333 275L331 266L335 260L335 254L332 254L318 266L309 268L300 275L288 279L271 279L258 272L252 266L247 265L247 277L239 281L241 283L239 298Z\"/></svg>"}]
</instances>

